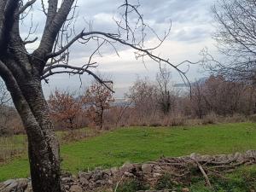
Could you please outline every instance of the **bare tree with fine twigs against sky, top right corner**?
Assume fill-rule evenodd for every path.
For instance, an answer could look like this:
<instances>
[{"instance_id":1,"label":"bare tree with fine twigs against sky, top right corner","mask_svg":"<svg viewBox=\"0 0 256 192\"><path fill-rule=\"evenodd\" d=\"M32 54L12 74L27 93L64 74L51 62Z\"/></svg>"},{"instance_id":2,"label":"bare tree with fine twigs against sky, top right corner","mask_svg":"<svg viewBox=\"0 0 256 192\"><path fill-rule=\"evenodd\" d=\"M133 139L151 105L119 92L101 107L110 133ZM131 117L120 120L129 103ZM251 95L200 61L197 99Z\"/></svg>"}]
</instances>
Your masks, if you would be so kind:
<instances>
[{"instance_id":1,"label":"bare tree with fine twigs against sky, top right corner","mask_svg":"<svg viewBox=\"0 0 256 192\"><path fill-rule=\"evenodd\" d=\"M218 0L212 7L217 21L213 38L226 58L215 61L207 52L207 67L229 79L256 81L255 0ZM213 62L212 62L213 61Z\"/></svg>"}]
</instances>

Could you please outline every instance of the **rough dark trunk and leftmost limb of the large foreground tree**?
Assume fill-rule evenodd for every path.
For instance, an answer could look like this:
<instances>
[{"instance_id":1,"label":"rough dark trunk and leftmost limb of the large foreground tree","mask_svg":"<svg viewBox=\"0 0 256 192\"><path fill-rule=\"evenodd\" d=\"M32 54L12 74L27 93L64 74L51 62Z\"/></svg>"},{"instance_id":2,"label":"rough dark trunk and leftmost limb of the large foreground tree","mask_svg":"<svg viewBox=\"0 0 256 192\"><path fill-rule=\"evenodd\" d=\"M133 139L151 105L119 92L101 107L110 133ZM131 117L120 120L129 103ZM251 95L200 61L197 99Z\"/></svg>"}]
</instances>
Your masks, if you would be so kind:
<instances>
[{"instance_id":1,"label":"rough dark trunk and leftmost limb of the large foreground tree","mask_svg":"<svg viewBox=\"0 0 256 192\"><path fill-rule=\"evenodd\" d=\"M7 14L0 13L0 76L26 129L32 189L33 192L61 192L59 144L40 78L40 67L47 60L26 52L20 38L19 1L7 2L10 10L4 9ZM6 8L4 3L0 2L0 8Z\"/></svg>"}]
</instances>

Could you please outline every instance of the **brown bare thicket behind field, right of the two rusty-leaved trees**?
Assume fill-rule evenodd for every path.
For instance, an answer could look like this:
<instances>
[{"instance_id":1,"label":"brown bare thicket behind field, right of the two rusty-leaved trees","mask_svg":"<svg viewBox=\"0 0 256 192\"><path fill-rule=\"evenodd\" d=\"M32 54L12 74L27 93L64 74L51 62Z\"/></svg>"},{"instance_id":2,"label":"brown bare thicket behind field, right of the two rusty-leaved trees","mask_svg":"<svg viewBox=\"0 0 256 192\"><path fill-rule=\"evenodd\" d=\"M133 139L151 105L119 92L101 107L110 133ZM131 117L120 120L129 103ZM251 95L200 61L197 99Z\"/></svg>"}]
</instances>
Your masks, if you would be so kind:
<instances>
[{"instance_id":1,"label":"brown bare thicket behind field, right of the two rusty-leaved trees","mask_svg":"<svg viewBox=\"0 0 256 192\"><path fill-rule=\"evenodd\" d=\"M182 119L204 119L212 113L221 117L256 113L253 84L212 75L191 84L191 92L189 88L184 92L171 81L166 87L160 82L165 81L137 79L127 95L133 103L128 121L140 125L179 125Z\"/></svg>"}]
</instances>

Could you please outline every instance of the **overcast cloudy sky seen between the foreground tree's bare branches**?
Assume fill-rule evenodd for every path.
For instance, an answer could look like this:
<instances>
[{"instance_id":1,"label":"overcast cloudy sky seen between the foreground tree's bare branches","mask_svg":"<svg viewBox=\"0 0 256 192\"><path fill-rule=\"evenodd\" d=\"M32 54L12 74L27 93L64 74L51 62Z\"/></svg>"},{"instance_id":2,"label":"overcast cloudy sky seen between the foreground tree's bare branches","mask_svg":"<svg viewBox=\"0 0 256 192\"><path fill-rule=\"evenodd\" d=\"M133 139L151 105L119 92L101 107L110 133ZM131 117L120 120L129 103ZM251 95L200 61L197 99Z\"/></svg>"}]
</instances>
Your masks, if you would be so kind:
<instances>
[{"instance_id":1,"label":"overcast cloudy sky seen between the foreground tree's bare branches","mask_svg":"<svg viewBox=\"0 0 256 192\"><path fill-rule=\"evenodd\" d=\"M93 29L103 32L115 32L116 26L113 22L113 15L117 14L117 8L121 0L79 0L78 13L76 21L77 30L86 26L86 21L93 21ZM172 31L165 43L155 51L161 57L170 59L173 63L179 63L184 60L199 61L201 59L201 49L207 47L214 55L216 53L215 43L212 40L212 14L211 5L214 0L140 0L140 12L144 20L158 34L164 34L172 20ZM39 5L38 5L39 6ZM44 27L41 17L35 17L39 26ZM26 28L27 26L23 26ZM23 31L22 30L22 31ZM24 30L26 31L26 30ZM156 43L154 36L149 36L148 46ZM36 43L37 44L37 43ZM32 46L35 46L32 45ZM93 47L93 45L91 45ZM71 61L73 65L82 65L88 59L91 52L90 45L75 44L71 48ZM157 63L146 60L146 65L142 61L137 61L132 49L125 49L118 46L119 56L115 55L113 49L103 48L102 57L97 55L94 61L99 63L97 71L107 74L114 81L116 97L122 97L129 86L137 79L137 76L148 76L154 79L158 73ZM186 68L187 66L184 66ZM181 83L182 79L172 69L172 79L175 83ZM191 66L187 73L189 80L194 81L206 76L200 70L200 67ZM90 84L92 80L87 74L82 77L82 86ZM44 93L49 96L51 90L55 88L78 90L80 86L78 77L68 77L67 75L58 75L49 79L49 84L44 84Z\"/></svg>"}]
</instances>

